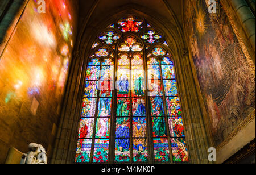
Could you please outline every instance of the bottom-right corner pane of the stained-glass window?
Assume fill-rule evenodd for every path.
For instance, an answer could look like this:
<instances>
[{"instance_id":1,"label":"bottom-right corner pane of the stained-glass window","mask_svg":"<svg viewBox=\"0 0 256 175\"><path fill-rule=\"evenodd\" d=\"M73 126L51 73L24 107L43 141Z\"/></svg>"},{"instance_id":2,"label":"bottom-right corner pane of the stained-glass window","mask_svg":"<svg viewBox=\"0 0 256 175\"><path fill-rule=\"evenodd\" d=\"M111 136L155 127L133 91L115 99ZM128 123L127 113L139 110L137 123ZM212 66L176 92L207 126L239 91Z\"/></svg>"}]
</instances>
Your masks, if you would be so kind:
<instances>
[{"instance_id":1,"label":"bottom-right corner pane of the stained-glass window","mask_svg":"<svg viewBox=\"0 0 256 175\"><path fill-rule=\"evenodd\" d=\"M184 138L171 139L172 160L175 163L188 162L188 149Z\"/></svg>"}]
</instances>

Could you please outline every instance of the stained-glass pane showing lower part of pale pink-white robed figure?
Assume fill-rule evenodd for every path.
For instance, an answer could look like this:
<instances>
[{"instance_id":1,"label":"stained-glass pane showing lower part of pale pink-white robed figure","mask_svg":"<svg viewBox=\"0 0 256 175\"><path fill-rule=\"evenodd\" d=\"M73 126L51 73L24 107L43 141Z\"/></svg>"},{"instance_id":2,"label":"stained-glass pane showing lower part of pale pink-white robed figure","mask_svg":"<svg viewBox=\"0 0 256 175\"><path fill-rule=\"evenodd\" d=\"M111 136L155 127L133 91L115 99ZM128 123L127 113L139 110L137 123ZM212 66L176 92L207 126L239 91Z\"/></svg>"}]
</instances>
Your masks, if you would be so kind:
<instances>
[{"instance_id":1,"label":"stained-glass pane showing lower part of pale pink-white robed figure","mask_svg":"<svg viewBox=\"0 0 256 175\"><path fill-rule=\"evenodd\" d=\"M110 118L97 118L96 138L109 138Z\"/></svg>"}]
</instances>

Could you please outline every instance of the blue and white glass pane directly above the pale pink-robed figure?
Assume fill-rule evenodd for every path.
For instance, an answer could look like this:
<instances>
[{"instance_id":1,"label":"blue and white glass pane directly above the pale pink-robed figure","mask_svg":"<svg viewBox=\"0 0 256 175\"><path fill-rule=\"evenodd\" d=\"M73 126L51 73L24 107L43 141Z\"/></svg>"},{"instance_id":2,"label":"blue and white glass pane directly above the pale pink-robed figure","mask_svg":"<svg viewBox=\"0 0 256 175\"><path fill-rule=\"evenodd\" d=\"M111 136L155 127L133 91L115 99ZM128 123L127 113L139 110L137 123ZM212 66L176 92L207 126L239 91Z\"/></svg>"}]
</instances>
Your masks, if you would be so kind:
<instances>
[{"instance_id":1,"label":"blue and white glass pane directly above the pale pink-robed figure","mask_svg":"<svg viewBox=\"0 0 256 175\"><path fill-rule=\"evenodd\" d=\"M106 117L111 115L111 98L100 98L98 102L98 116Z\"/></svg>"}]
</instances>

